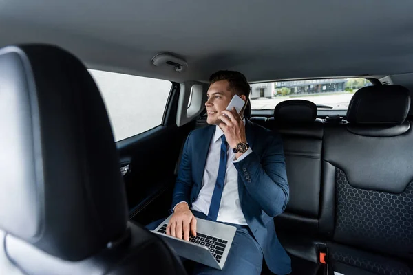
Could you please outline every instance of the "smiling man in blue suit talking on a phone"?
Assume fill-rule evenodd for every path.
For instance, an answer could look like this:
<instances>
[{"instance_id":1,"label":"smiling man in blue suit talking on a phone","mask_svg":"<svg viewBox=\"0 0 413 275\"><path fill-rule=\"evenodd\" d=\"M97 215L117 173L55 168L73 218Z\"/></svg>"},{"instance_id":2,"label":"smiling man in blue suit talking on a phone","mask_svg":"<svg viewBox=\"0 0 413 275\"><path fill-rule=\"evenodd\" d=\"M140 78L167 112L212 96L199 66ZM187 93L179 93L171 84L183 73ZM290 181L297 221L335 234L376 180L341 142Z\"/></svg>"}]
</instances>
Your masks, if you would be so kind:
<instances>
[{"instance_id":1,"label":"smiling man in blue suit talking on a phone","mask_svg":"<svg viewBox=\"0 0 413 275\"><path fill-rule=\"evenodd\" d=\"M225 110L234 95L247 102L249 92L240 72L213 74L205 103L210 126L189 133L184 144L167 234L189 240L195 217L237 228L224 270L196 264L194 274L260 274L263 257L273 273L291 271L273 222L288 203L282 140L243 111Z\"/></svg>"}]
</instances>

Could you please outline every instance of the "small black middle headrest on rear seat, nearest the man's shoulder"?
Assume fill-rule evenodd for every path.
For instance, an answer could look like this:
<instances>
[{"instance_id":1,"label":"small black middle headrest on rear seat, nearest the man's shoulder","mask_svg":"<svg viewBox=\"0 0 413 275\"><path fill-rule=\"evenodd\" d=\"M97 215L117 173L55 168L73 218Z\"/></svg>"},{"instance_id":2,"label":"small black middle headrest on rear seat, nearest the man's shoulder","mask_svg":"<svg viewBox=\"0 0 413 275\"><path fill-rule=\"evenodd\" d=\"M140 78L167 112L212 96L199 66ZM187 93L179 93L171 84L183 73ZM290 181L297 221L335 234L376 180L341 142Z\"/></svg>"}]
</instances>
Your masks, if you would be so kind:
<instances>
[{"instance_id":1,"label":"small black middle headrest on rear seat, nearest the man's shoulder","mask_svg":"<svg viewBox=\"0 0 413 275\"><path fill-rule=\"evenodd\" d=\"M286 100L279 102L274 109L277 123L308 123L317 118L317 106L308 100Z\"/></svg>"}]
</instances>

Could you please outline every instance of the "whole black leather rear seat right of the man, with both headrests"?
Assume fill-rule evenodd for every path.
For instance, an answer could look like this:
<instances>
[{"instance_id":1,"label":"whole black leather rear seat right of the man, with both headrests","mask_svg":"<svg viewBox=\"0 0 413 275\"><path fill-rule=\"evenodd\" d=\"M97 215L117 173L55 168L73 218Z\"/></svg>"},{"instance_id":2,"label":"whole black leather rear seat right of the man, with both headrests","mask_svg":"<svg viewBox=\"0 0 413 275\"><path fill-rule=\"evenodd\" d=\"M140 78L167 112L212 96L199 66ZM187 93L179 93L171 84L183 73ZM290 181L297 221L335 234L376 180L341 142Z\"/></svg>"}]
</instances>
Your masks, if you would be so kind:
<instances>
[{"instance_id":1,"label":"whole black leather rear seat right of the man, with both headrests","mask_svg":"<svg viewBox=\"0 0 413 275\"><path fill-rule=\"evenodd\" d=\"M372 86L354 94L349 123L323 123L306 100L251 118L284 142L290 201L275 225L292 274L322 274L321 251L341 274L413 274L409 107L404 87Z\"/></svg>"}]
</instances>

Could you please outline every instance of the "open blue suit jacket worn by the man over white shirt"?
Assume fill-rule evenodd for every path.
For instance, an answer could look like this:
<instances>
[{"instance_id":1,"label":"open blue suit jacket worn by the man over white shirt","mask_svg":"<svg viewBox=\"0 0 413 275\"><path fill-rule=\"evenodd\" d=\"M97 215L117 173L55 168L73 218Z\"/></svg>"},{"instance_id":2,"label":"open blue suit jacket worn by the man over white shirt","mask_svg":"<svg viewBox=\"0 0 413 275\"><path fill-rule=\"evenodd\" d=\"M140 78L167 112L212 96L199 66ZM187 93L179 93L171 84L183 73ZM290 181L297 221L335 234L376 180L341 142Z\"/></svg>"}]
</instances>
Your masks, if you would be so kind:
<instances>
[{"instance_id":1,"label":"open blue suit jacket worn by the man over white shirt","mask_svg":"<svg viewBox=\"0 0 413 275\"><path fill-rule=\"evenodd\" d=\"M246 120L246 140L253 152L234 164L242 212L260 244L268 268L275 274L291 272L290 257L275 234L273 217L288 203L288 183L282 140L279 135ZM215 126L189 133L184 144L172 208L180 201L191 207L202 187L209 145Z\"/></svg>"}]
</instances>

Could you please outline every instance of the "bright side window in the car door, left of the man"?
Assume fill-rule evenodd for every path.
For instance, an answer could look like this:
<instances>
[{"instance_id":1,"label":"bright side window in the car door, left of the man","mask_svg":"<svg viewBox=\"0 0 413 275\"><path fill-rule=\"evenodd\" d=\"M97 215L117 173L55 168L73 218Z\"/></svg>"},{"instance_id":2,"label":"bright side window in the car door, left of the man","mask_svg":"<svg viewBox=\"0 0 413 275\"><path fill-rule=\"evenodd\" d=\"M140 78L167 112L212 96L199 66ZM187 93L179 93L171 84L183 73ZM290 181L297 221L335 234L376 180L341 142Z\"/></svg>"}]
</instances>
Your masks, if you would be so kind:
<instances>
[{"instance_id":1,"label":"bright side window in the car door, left of the man","mask_svg":"<svg viewBox=\"0 0 413 275\"><path fill-rule=\"evenodd\" d=\"M116 142L162 123L170 81L92 69L89 72L105 101Z\"/></svg>"}]
</instances>

